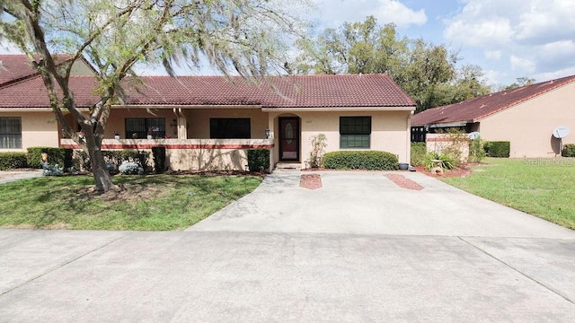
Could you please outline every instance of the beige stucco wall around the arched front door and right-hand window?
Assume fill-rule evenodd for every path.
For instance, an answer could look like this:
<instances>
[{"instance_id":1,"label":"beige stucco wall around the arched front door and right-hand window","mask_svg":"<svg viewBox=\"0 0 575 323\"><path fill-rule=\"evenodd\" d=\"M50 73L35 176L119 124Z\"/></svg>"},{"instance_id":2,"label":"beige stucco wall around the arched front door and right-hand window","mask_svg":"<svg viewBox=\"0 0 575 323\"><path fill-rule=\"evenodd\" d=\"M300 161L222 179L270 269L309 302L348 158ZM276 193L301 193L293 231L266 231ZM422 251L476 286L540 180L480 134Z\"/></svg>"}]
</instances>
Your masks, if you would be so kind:
<instances>
[{"instance_id":1,"label":"beige stucco wall around the arched front door and right-hand window","mask_svg":"<svg viewBox=\"0 0 575 323\"><path fill-rule=\"evenodd\" d=\"M299 117L301 127L300 162L305 167L312 151L312 138L323 134L327 138L325 152L340 149L340 117L371 117L371 147L398 155L399 162L410 161L410 125L411 111L332 111L332 112L270 112L274 130L274 162L279 162L279 117Z\"/></svg>"}]
</instances>

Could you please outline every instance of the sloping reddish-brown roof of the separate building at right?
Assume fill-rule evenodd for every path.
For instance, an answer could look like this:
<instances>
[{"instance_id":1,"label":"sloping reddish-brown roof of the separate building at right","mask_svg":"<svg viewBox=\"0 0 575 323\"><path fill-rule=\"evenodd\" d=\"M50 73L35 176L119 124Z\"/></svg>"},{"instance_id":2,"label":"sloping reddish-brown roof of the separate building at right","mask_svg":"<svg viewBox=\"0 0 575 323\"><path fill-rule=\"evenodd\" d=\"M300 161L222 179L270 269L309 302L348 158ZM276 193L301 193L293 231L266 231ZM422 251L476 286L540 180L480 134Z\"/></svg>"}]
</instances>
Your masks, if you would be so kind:
<instances>
[{"instance_id":1,"label":"sloping reddish-brown roof of the separate building at right","mask_svg":"<svg viewBox=\"0 0 575 323\"><path fill-rule=\"evenodd\" d=\"M526 85L514 90L491 93L443 107L427 109L411 118L411 126L477 122L500 110L509 109L523 101L533 99L574 81L575 75Z\"/></svg>"}]
</instances>

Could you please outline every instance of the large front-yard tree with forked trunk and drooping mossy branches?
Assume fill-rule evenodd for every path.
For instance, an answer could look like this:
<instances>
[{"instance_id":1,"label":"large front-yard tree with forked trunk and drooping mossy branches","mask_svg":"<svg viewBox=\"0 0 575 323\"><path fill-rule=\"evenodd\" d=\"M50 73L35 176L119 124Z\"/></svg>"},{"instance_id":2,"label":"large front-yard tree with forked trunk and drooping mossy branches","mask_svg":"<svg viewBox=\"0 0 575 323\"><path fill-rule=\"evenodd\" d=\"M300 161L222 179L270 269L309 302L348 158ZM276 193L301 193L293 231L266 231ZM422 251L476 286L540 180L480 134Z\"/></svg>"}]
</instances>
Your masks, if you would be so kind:
<instances>
[{"instance_id":1,"label":"large front-yard tree with forked trunk and drooping mossy branches","mask_svg":"<svg viewBox=\"0 0 575 323\"><path fill-rule=\"evenodd\" d=\"M40 72L58 123L90 156L95 188L114 188L102 157L104 128L111 104L123 100L122 80L136 75L138 62L194 67L207 57L225 73L245 77L281 68L287 35L300 21L289 5L258 0L0 0L0 35L18 46ZM55 54L73 57L55 63ZM100 96L89 112L76 107L70 89L72 65L87 59L97 69ZM64 118L69 112L74 120ZM75 123L84 129L81 139ZM92 130L90 130L92 129Z\"/></svg>"}]
</instances>

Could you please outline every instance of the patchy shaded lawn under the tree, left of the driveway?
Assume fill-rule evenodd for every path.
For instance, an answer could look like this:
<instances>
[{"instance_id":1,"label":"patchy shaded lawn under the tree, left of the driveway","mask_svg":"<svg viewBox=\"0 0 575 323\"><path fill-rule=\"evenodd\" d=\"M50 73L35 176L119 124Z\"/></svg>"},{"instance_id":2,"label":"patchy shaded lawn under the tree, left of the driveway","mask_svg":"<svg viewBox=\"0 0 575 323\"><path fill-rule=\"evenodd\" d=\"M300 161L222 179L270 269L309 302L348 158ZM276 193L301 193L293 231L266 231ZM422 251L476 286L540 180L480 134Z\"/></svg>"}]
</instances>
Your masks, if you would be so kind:
<instances>
[{"instance_id":1,"label":"patchy shaded lawn under the tree, left of the driveway","mask_svg":"<svg viewBox=\"0 0 575 323\"><path fill-rule=\"evenodd\" d=\"M94 195L86 176L0 185L0 227L79 230L182 230L261 183L254 176L115 176L122 191Z\"/></svg>"}]
</instances>

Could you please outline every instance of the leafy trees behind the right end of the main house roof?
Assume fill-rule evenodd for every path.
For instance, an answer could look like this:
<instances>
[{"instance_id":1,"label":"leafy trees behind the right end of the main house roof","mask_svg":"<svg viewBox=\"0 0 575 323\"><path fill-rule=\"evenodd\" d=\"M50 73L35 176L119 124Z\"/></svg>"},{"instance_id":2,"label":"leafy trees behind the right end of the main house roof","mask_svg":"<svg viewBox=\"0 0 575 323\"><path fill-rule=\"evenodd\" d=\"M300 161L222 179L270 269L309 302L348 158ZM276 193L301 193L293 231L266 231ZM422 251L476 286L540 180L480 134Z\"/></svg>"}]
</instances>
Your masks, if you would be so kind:
<instances>
[{"instance_id":1,"label":"leafy trees behind the right end of the main house roof","mask_svg":"<svg viewBox=\"0 0 575 323\"><path fill-rule=\"evenodd\" d=\"M295 73L387 73L417 102L418 112L490 92L481 67L457 67L459 58L444 45L400 38L393 23L379 26L373 16L296 45Z\"/></svg>"}]
</instances>

